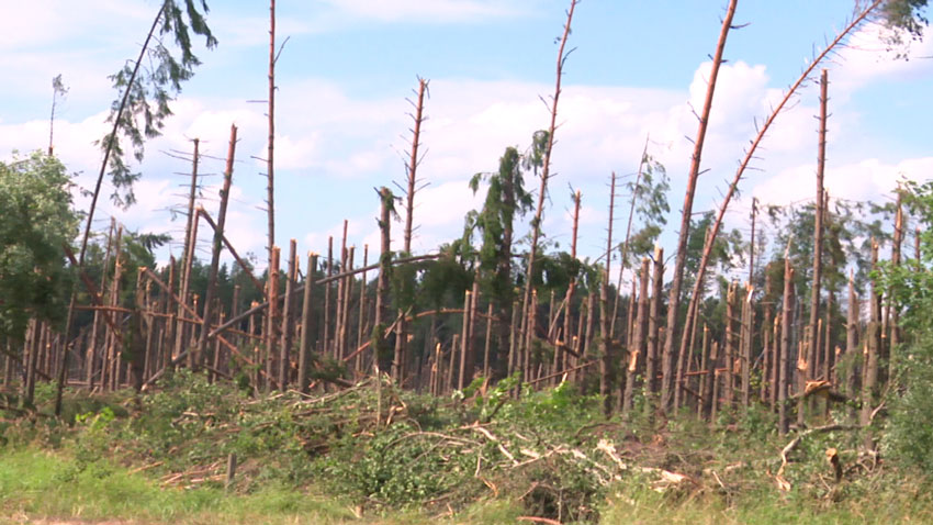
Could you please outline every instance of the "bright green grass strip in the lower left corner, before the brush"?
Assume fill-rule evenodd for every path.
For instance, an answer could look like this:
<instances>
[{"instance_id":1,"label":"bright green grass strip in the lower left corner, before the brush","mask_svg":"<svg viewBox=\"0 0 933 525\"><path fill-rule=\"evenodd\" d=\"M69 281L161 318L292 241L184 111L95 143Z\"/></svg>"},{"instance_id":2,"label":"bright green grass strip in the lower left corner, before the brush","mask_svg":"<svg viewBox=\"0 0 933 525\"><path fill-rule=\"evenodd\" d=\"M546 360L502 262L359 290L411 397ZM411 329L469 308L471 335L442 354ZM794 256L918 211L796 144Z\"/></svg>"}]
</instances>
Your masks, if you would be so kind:
<instances>
[{"instance_id":1,"label":"bright green grass strip in the lower left corner, before the brush","mask_svg":"<svg viewBox=\"0 0 933 525\"><path fill-rule=\"evenodd\" d=\"M221 489L161 489L142 473L108 461L82 465L33 448L0 457L2 515L145 523L257 524L357 521L348 505L302 492L270 488L248 495Z\"/></svg>"}]
</instances>

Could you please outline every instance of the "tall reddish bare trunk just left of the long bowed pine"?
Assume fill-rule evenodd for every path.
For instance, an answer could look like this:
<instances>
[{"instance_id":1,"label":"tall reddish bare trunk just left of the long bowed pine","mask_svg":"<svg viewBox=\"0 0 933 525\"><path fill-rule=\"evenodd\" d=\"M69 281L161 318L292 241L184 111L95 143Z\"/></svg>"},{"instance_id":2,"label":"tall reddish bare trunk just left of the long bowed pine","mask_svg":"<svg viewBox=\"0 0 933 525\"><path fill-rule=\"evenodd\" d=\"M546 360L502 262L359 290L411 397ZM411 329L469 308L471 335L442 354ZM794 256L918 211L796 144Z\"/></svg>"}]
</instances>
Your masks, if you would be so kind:
<instances>
[{"instance_id":1,"label":"tall reddish bare trunk just left of the long bowed pine","mask_svg":"<svg viewBox=\"0 0 933 525\"><path fill-rule=\"evenodd\" d=\"M661 381L661 407L664 411L672 406L673 395L672 387L674 379L674 342L677 339L677 317L681 310L681 287L684 281L684 270L687 261L687 239L690 233L690 216L694 210L694 194L696 193L697 178L700 171L700 159L702 157L702 147L706 139L706 132L709 125L709 114L712 109L712 94L716 91L716 79L719 76L719 67L722 65L722 53L726 49L726 38L729 35L729 30L732 27L732 16L735 14L735 5L738 0L730 0L729 8L726 11L726 16L722 19L722 29L719 32L719 41L716 45L716 54L712 57L712 68L707 81L706 98L704 100L702 111L699 116L699 125L697 136L694 139L694 153L690 157L690 171L687 178L687 191L684 196L684 208L681 215L681 231L677 238L677 256L674 260L674 273L671 281L671 295L667 301L667 329L666 339L664 342L664 356L662 362L662 381ZM689 316L689 310L688 314ZM684 327L685 334L689 333L689 327Z\"/></svg>"}]
</instances>

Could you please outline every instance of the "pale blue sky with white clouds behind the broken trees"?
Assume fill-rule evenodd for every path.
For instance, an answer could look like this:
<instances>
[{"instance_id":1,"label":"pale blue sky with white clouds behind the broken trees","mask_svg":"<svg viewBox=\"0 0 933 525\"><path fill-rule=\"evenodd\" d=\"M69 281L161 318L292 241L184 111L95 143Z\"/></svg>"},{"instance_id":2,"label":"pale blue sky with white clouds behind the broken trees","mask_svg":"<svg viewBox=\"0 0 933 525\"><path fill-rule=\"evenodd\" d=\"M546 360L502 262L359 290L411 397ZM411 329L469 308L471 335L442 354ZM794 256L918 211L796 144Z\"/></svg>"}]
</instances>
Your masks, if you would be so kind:
<instances>
[{"instance_id":1,"label":"pale blue sky with white clouds behind the broken trees","mask_svg":"<svg viewBox=\"0 0 933 525\"><path fill-rule=\"evenodd\" d=\"M265 267L266 104L269 5L207 0L214 49L195 46L202 65L171 104L164 136L146 145L135 165L143 178L137 203L122 210L102 201L94 228L114 216L138 232L169 233L158 256L179 256L192 139L205 154L200 203L217 213L217 190L232 124L239 130L227 236L240 254ZM493 171L507 146L528 147L546 129L553 93L558 37L569 0L279 0L277 64L277 245L299 253L339 245L375 250L379 200L374 188L402 183L411 147L418 78L429 80L421 130L413 248L429 253L462 233L463 217L482 205L468 188ZM622 182L637 171L641 150L671 177L672 213L662 243L672 245L710 56L726 0L582 0L575 12L560 99L543 228L569 249L571 187L583 194L580 250L595 258L606 244L611 172ZM108 76L138 54L157 0L35 0L0 8L0 159L14 150L46 148L52 79L69 91L56 108L56 154L92 188L101 152L93 141L120 93ZM744 147L783 90L851 18L852 0L741 0L726 46L694 211L712 210L732 179ZM933 175L933 38L911 44L896 60L866 24L823 67L829 70L825 186L834 198L890 199L900 178ZM806 202L816 192L819 88L808 82L765 138L754 170L727 214L747 232L752 197L763 203ZM537 180L527 181L529 188ZM400 191L395 188L396 193ZM536 190L537 191L537 190ZM111 188L104 185L103 194ZM76 190L76 205L88 199ZM619 191L616 239L628 220ZM400 210L403 206L398 206ZM527 228L527 219L525 228ZM393 223L401 248L404 217ZM207 254L202 228L199 255ZM285 248L286 249L286 248ZM668 248L670 253L671 248ZM359 257L359 255L358 255ZM375 256L370 254L370 261ZM359 259L357 264L359 265Z\"/></svg>"}]
</instances>

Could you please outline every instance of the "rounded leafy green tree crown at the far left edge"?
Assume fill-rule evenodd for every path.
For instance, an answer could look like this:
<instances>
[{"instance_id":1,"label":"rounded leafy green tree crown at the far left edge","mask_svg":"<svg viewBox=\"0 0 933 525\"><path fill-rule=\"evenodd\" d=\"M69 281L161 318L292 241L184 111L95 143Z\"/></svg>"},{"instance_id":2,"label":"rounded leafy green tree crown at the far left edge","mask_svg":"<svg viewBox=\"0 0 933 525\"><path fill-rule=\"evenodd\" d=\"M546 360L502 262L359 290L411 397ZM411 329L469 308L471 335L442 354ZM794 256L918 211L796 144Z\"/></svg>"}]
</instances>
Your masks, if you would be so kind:
<instances>
[{"instance_id":1,"label":"rounded leafy green tree crown at the far left edge","mask_svg":"<svg viewBox=\"0 0 933 525\"><path fill-rule=\"evenodd\" d=\"M75 237L71 181L52 156L0 163L0 335L22 338L30 319L59 322L72 276L64 247Z\"/></svg>"}]
</instances>

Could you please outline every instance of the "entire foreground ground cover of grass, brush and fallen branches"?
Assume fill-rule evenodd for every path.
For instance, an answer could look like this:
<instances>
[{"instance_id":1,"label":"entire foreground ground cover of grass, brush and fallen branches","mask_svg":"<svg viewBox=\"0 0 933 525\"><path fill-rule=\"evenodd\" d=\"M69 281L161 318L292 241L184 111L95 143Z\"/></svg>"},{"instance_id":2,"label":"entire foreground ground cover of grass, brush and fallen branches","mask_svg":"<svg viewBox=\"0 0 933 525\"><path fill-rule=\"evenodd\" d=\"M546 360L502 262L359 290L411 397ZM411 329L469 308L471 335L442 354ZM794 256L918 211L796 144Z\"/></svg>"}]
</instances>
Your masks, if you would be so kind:
<instances>
[{"instance_id":1,"label":"entire foreground ground cover of grass, brush and fallen branches","mask_svg":"<svg viewBox=\"0 0 933 525\"><path fill-rule=\"evenodd\" d=\"M387 392L381 424L371 384L254 399L182 373L142 400L72 392L71 421L0 420L0 523L933 523L928 477L858 454L857 433L802 440L785 471L793 489L777 490L788 438L760 407L712 427L686 414L607 422L598 400L558 388L508 401L484 435L473 422L493 394ZM846 466L839 484L829 447ZM227 492L231 453L240 466ZM692 481L657 492L657 470L616 461Z\"/></svg>"}]
</instances>

